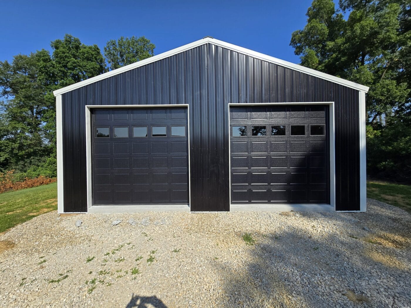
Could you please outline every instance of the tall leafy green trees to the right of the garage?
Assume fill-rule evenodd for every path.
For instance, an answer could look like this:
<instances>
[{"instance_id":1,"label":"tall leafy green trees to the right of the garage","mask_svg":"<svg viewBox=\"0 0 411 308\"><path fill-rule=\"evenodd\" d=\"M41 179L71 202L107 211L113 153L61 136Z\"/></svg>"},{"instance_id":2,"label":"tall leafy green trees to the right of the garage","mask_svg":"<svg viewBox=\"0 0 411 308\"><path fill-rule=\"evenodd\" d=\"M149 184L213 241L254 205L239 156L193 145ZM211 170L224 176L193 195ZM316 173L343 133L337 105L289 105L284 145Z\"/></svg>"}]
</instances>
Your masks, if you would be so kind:
<instances>
[{"instance_id":1,"label":"tall leafy green trees to the right of the garage","mask_svg":"<svg viewBox=\"0 0 411 308\"><path fill-rule=\"evenodd\" d=\"M340 0L335 8L332 0L314 0L307 17L291 35L301 64L370 87L368 169L411 181L411 165L404 166L411 142L397 131L411 122L410 2ZM400 173L390 173L394 166Z\"/></svg>"}]
</instances>

